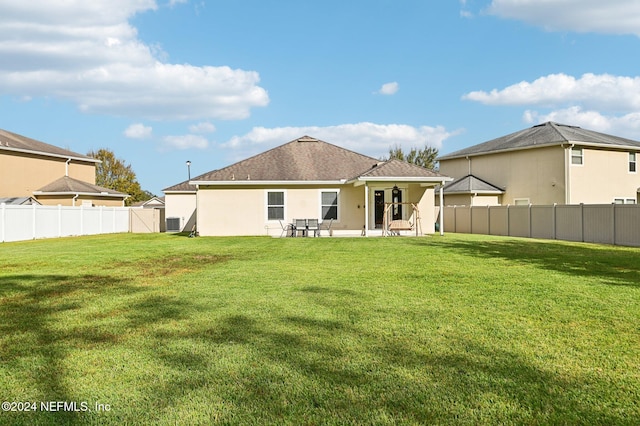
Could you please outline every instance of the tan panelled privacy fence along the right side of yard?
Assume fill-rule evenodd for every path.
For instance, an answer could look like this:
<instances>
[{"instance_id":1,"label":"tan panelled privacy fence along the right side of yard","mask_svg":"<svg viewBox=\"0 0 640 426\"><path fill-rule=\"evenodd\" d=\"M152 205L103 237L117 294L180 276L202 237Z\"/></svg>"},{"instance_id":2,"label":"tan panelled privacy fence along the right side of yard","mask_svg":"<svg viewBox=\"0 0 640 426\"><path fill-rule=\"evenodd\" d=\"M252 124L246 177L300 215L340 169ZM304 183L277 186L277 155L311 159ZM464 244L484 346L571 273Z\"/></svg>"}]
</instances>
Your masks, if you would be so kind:
<instances>
[{"instance_id":1,"label":"tan panelled privacy fence along the right side of yard","mask_svg":"<svg viewBox=\"0 0 640 426\"><path fill-rule=\"evenodd\" d=\"M447 206L444 230L640 246L640 205Z\"/></svg>"}]
</instances>

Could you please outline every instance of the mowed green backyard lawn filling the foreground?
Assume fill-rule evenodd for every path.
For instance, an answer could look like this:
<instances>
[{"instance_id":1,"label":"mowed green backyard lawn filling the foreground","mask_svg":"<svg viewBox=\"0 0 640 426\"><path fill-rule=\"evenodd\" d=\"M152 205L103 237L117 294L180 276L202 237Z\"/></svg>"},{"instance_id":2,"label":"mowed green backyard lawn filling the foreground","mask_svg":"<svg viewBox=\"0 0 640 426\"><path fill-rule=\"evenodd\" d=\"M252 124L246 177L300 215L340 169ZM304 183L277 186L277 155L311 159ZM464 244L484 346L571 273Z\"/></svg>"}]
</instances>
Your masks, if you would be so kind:
<instances>
[{"instance_id":1,"label":"mowed green backyard lawn filling the foreground","mask_svg":"<svg viewBox=\"0 0 640 426\"><path fill-rule=\"evenodd\" d=\"M454 234L0 244L0 399L37 403L0 424L638 424L640 250Z\"/></svg>"}]
</instances>

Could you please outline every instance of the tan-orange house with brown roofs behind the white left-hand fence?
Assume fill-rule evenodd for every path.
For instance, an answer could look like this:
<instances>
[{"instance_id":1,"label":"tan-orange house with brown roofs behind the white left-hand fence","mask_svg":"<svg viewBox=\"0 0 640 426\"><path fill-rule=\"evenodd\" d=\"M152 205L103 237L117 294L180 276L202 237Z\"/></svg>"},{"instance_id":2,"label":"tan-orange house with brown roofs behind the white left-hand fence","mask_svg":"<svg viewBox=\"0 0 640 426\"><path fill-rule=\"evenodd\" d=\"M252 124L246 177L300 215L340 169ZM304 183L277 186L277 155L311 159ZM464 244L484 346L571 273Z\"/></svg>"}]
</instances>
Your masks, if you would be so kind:
<instances>
[{"instance_id":1,"label":"tan-orange house with brown roofs behind the white left-hand fence","mask_svg":"<svg viewBox=\"0 0 640 426\"><path fill-rule=\"evenodd\" d=\"M0 197L43 205L124 206L128 197L95 185L96 160L0 130Z\"/></svg>"}]
</instances>

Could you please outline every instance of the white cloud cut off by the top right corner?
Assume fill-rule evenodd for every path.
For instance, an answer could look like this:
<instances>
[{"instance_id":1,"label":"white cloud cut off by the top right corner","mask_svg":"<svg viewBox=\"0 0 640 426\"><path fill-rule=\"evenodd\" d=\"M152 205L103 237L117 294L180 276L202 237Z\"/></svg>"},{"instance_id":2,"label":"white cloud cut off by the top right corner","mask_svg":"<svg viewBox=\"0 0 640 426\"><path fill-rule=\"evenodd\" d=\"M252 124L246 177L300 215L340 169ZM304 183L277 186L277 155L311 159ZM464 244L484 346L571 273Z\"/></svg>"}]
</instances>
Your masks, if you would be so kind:
<instances>
[{"instance_id":1,"label":"white cloud cut off by the top right corner","mask_svg":"<svg viewBox=\"0 0 640 426\"><path fill-rule=\"evenodd\" d=\"M551 31L640 35L637 0L493 0L488 12Z\"/></svg>"}]
</instances>

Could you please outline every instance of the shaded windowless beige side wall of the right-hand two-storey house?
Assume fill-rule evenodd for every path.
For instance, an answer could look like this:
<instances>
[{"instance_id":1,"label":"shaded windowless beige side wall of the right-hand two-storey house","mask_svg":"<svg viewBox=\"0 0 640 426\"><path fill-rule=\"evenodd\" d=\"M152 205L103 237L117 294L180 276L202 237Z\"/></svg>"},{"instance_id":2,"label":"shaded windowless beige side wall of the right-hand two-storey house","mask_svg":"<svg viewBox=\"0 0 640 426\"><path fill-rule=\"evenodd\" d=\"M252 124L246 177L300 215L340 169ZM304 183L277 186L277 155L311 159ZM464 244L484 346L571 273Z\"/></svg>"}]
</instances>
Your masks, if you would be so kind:
<instances>
[{"instance_id":1,"label":"shaded windowless beige side wall of the right-hand two-storey house","mask_svg":"<svg viewBox=\"0 0 640 426\"><path fill-rule=\"evenodd\" d=\"M505 188L502 204L529 200L531 204L565 203L565 150L560 146L526 149L444 160L440 173L458 179L473 174ZM445 205L453 205L445 196ZM465 204L469 204L468 202Z\"/></svg>"}]
</instances>

